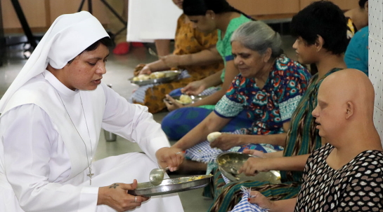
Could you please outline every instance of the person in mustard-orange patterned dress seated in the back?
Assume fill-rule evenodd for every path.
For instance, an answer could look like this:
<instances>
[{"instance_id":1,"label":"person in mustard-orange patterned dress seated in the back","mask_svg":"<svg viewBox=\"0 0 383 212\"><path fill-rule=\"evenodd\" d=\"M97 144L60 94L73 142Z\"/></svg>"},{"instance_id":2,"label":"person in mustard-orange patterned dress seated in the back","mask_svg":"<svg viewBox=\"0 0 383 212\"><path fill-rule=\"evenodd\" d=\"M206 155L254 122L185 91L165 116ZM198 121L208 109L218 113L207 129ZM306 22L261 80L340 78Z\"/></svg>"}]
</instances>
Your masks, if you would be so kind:
<instances>
[{"instance_id":1,"label":"person in mustard-orange patterned dress seated in the back","mask_svg":"<svg viewBox=\"0 0 383 212\"><path fill-rule=\"evenodd\" d=\"M172 1L182 9L183 0ZM211 53L212 49L216 48L216 42L216 30L209 33L198 31L188 17L182 14L177 21L173 54L161 57L150 64L139 64L136 67L136 74L179 69L186 70L183 71L183 78L171 83L141 86L133 93L132 101L148 106L150 113L160 112L166 108L163 101L166 94L176 88L184 87L190 82L201 80L221 71L223 69L221 57ZM191 61L190 57L196 58L196 60Z\"/></svg>"}]
</instances>

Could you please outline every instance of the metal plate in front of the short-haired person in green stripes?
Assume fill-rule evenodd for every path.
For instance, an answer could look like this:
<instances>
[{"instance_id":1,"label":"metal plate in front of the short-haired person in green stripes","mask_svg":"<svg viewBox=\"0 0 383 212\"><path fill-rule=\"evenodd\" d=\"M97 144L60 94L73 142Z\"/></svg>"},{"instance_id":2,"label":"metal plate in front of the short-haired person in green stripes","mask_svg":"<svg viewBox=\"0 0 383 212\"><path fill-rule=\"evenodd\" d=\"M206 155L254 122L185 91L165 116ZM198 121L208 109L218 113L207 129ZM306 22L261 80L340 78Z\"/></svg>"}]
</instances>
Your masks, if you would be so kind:
<instances>
[{"instance_id":1,"label":"metal plate in front of the short-haired person in green stripes","mask_svg":"<svg viewBox=\"0 0 383 212\"><path fill-rule=\"evenodd\" d=\"M231 181L270 181L271 183L280 183L278 171L259 172L256 176L245 176L243 173L238 174L238 170L240 170L249 157L255 156L228 152L219 154L216 161L219 170Z\"/></svg>"}]
</instances>

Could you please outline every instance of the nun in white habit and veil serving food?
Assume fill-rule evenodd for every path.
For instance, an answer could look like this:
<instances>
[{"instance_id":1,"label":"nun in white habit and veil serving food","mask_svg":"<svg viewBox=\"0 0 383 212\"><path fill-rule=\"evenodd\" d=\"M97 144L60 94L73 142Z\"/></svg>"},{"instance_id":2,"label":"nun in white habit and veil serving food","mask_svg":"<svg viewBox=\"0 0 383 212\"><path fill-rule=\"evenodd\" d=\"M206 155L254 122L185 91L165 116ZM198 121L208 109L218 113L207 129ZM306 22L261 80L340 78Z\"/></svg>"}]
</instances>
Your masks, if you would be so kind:
<instances>
[{"instance_id":1,"label":"nun in white habit and veil serving food","mask_svg":"<svg viewBox=\"0 0 383 212\"><path fill-rule=\"evenodd\" d=\"M0 100L0 211L183 211L176 194L126 193L183 155L146 107L101 83L108 39L90 13L61 15ZM92 163L101 127L146 154Z\"/></svg>"}]
</instances>

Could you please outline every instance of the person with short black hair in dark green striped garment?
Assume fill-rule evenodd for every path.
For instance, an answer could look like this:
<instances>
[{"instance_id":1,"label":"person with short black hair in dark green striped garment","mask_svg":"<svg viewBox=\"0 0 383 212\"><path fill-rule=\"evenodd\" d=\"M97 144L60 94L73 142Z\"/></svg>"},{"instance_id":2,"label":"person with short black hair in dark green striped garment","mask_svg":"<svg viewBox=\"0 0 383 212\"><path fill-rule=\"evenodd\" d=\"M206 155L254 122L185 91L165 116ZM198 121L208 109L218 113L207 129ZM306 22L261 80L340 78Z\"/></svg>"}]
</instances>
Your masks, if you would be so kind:
<instances>
[{"instance_id":1,"label":"person with short black hair in dark green striped garment","mask_svg":"<svg viewBox=\"0 0 383 212\"><path fill-rule=\"evenodd\" d=\"M245 181L226 183L221 171L214 169L214 203L209 211L230 211L240 201L241 187L252 188L272 200L297 197L304 166L310 153L325 143L316 130L311 112L316 107L318 87L330 74L346 69L343 53L348 40L342 10L331 1L316 1L292 18L292 34L297 36L292 46L301 64L316 64L318 73L310 80L306 92L292 114L285 149L276 153L254 154L252 164L258 171L280 171L281 183Z\"/></svg>"}]
</instances>

